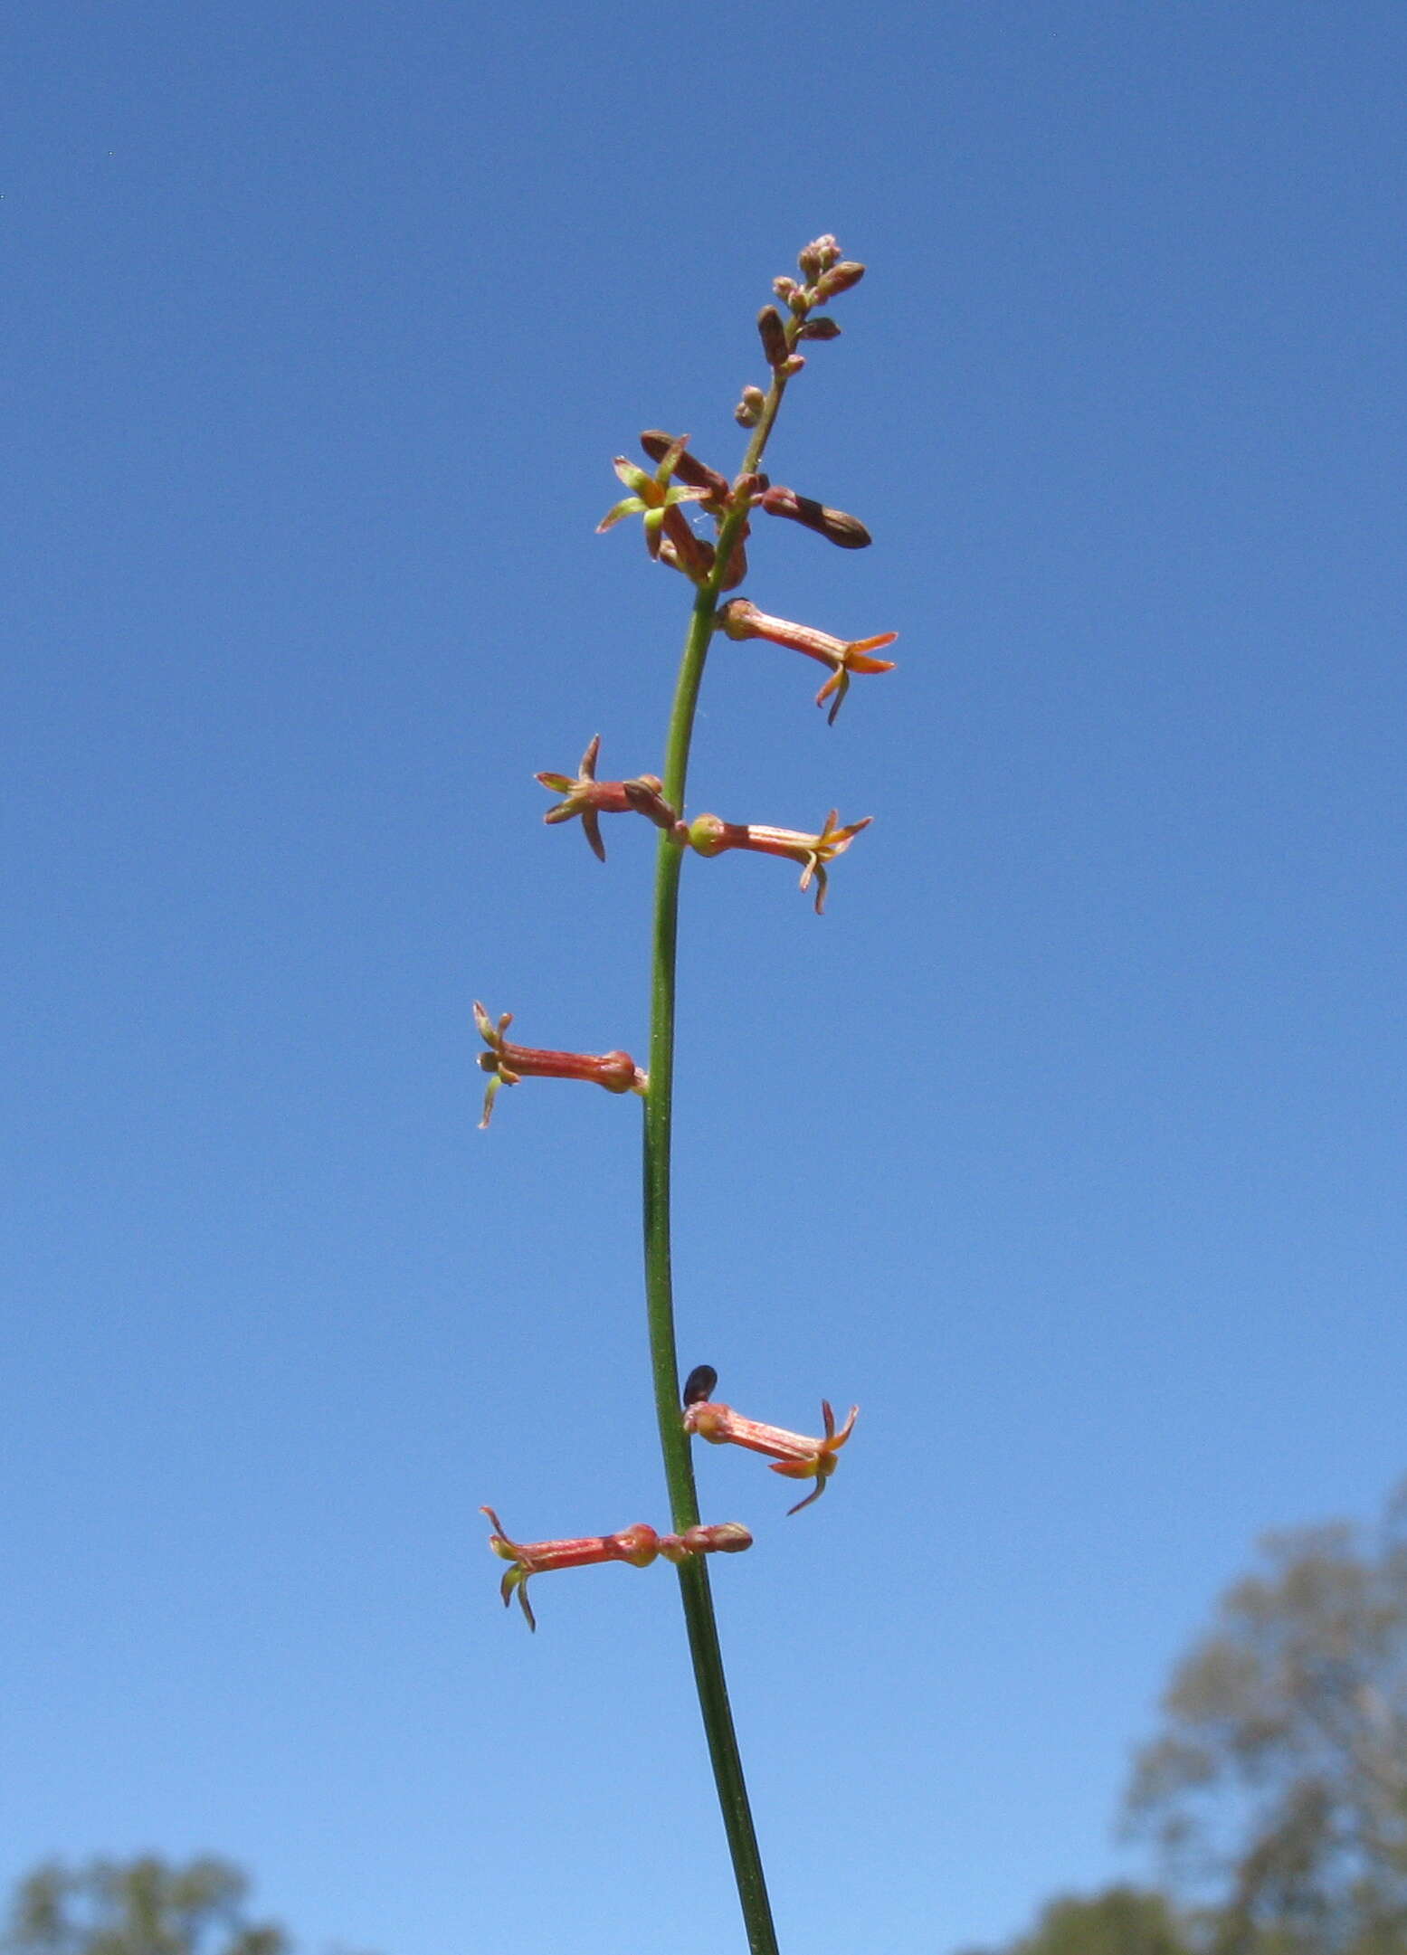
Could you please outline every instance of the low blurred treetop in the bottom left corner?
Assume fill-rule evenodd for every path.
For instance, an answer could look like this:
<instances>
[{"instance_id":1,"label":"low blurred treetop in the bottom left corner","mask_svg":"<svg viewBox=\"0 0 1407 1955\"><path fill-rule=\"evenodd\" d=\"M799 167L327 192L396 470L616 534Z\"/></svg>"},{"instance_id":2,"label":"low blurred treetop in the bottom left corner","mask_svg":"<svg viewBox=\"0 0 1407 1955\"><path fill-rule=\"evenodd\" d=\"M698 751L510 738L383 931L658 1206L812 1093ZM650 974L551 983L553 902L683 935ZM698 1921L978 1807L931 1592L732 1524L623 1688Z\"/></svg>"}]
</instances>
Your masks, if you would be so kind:
<instances>
[{"instance_id":1,"label":"low blurred treetop in the bottom left corner","mask_svg":"<svg viewBox=\"0 0 1407 1955\"><path fill-rule=\"evenodd\" d=\"M287 1955L281 1928L246 1920L246 1892L238 1867L215 1857L55 1861L20 1881L0 1945L6 1955Z\"/></svg>"}]
</instances>

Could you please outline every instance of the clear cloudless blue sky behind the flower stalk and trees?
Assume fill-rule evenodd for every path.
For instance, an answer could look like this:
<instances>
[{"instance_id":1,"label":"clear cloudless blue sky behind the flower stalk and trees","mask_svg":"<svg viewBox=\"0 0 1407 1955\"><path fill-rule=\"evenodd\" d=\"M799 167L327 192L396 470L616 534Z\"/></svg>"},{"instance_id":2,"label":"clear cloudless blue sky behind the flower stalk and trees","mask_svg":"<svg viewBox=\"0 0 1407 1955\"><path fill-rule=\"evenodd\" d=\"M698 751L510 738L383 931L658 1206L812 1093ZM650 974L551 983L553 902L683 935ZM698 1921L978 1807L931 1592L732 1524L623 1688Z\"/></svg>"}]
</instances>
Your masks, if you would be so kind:
<instances>
[{"instance_id":1,"label":"clear cloudless blue sky behind the flower stalk and trees","mask_svg":"<svg viewBox=\"0 0 1407 1955\"><path fill-rule=\"evenodd\" d=\"M872 813L811 915L686 876L686 1363L784 1947L946 1951L1139 1875L1130 1746L1255 1535L1403 1421L1397 4L21 4L4 1865L215 1849L303 1945L741 1945L651 1519L637 1107L475 1132L469 1001L645 1040L686 588L610 457L793 389L692 807Z\"/></svg>"}]
</instances>

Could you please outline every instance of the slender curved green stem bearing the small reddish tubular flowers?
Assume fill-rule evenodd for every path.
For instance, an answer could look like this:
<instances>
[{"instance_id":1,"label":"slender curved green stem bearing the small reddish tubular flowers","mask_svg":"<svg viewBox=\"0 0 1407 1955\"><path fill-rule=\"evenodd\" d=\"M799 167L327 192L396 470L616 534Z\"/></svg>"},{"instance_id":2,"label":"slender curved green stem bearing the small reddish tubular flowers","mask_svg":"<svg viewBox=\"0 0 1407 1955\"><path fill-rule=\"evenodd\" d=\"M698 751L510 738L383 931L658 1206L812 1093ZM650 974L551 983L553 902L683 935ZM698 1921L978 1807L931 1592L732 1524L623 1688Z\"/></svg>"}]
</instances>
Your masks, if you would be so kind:
<instances>
[{"instance_id":1,"label":"slender curved green stem bearing the small reddish tubular flowers","mask_svg":"<svg viewBox=\"0 0 1407 1955\"><path fill-rule=\"evenodd\" d=\"M748 442L743 471L750 473L762 459L776 411L782 405L786 377L774 375L758 426ZM662 792L670 807L684 809L694 712L698 708L704 665L717 616L717 602L733 542L746 520L741 500L719 526L713 575L694 598L684 657L680 661L674 708L664 741ZM655 958L651 978L651 1060L649 1093L645 1095L645 1296L649 1312L651 1370L655 1378L655 1415L659 1419L664 1482L676 1533L698 1527L698 1494L694 1490L694 1460L684 1431L680 1408L680 1370L674 1341L674 1286L670 1277L670 1136L674 1120L674 993L678 966L678 890L684 848L670 833L659 839L655 870ZM684 1623L694 1658L704 1730L707 1736L713 1781L717 1785L723 1828L733 1875L737 1879L743 1920L750 1955L778 1955L772 1906L762 1873L752 1808L748 1806L743 1758L739 1754L733 1711L729 1707L723 1652L719 1648L713 1595L702 1554L678 1566Z\"/></svg>"}]
</instances>

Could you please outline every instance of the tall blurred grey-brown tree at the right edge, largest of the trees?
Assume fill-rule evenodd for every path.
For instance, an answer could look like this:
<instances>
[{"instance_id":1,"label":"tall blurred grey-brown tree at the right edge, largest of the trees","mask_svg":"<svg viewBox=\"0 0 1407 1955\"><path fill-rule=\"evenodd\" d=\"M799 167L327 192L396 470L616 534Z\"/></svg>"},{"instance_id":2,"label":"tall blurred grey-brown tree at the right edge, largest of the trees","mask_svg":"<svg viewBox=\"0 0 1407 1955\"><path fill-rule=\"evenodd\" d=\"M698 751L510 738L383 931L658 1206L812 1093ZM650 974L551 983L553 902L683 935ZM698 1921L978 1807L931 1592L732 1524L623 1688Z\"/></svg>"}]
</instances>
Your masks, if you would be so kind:
<instances>
[{"instance_id":1,"label":"tall blurred grey-brown tree at the right edge, largest of the trees","mask_svg":"<svg viewBox=\"0 0 1407 1955\"><path fill-rule=\"evenodd\" d=\"M1407 1955L1407 1486L1376 1541L1260 1552L1172 1675L1130 1818L1227 1955Z\"/></svg>"}]
</instances>

